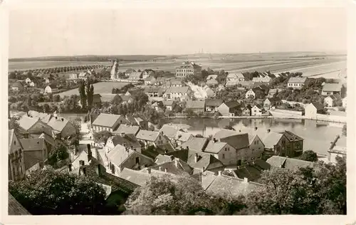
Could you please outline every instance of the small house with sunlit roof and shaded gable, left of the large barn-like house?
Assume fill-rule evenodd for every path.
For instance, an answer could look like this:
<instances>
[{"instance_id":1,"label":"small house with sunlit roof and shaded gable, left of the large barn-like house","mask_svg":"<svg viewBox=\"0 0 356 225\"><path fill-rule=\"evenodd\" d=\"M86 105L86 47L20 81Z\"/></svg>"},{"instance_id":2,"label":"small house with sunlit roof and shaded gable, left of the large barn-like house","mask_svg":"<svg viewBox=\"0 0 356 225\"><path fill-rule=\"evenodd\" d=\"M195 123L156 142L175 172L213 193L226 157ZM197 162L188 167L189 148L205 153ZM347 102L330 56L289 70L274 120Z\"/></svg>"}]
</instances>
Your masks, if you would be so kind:
<instances>
[{"instance_id":1,"label":"small house with sunlit roof and shaded gable, left of the large barn-like house","mask_svg":"<svg viewBox=\"0 0 356 225\"><path fill-rule=\"evenodd\" d=\"M236 150L234 147L226 142L219 142L216 139L209 141L204 152L209 153L219 159L225 166L234 165L236 166Z\"/></svg>"}]
</instances>

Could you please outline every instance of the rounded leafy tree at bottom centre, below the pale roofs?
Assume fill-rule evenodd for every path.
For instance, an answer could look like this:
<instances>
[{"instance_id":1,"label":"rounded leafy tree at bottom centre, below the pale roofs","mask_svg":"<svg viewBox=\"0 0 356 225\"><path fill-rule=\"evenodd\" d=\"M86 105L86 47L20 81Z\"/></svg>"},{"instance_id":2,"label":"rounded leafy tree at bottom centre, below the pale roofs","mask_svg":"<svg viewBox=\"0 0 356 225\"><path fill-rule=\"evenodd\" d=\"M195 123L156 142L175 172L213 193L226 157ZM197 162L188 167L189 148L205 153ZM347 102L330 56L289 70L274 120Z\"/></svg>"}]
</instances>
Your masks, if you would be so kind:
<instances>
[{"instance_id":1,"label":"rounded leafy tree at bottom centre, below the pale roofs","mask_svg":"<svg viewBox=\"0 0 356 225\"><path fill-rule=\"evenodd\" d=\"M125 204L127 214L195 215L214 214L215 205L197 180L182 176L151 177L133 192Z\"/></svg>"}]
</instances>

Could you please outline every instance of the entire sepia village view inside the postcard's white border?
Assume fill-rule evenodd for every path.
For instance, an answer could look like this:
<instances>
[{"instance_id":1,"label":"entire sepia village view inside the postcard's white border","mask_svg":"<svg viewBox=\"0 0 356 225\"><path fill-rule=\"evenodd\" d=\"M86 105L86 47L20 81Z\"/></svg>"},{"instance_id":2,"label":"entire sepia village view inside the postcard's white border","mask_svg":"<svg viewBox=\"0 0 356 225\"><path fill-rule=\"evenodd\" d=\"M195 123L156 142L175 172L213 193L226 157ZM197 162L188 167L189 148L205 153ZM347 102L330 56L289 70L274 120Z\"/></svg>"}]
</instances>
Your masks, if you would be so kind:
<instances>
[{"instance_id":1,"label":"entire sepia village view inside the postcard's white border","mask_svg":"<svg viewBox=\"0 0 356 225\"><path fill-rule=\"evenodd\" d=\"M352 213L347 7L186 5L8 7L8 215Z\"/></svg>"}]
</instances>

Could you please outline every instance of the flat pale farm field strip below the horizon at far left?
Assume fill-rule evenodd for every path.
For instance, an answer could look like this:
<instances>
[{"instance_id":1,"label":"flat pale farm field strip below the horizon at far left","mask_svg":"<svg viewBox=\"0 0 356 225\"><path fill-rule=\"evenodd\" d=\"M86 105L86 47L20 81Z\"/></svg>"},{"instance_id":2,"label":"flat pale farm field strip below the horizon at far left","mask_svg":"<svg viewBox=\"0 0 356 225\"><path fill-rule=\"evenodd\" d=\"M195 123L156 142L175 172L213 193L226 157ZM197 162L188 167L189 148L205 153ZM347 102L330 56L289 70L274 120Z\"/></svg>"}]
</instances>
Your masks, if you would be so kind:
<instances>
[{"instance_id":1,"label":"flat pale farm field strip below the horizon at far left","mask_svg":"<svg viewBox=\"0 0 356 225\"><path fill-rule=\"evenodd\" d=\"M109 66L110 62L85 62L85 61L23 61L9 62L9 72L14 70L33 70L40 68L55 68L62 66L90 66L90 65Z\"/></svg>"}]
</instances>

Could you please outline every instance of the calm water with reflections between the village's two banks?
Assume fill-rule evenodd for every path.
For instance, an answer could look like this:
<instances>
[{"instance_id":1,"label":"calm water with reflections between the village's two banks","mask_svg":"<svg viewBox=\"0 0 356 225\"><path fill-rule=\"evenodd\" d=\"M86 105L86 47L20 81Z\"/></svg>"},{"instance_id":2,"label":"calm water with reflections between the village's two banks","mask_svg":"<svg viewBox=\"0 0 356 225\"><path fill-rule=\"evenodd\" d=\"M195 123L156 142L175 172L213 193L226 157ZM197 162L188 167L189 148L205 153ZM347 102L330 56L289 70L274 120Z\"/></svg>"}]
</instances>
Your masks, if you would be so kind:
<instances>
[{"instance_id":1,"label":"calm water with reflections between the village's two banks","mask_svg":"<svg viewBox=\"0 0 356 225\"><path fill-rule=\"evenodd\" d=\"M84 114L62 114L66 118L84 117ZM327 154L336 135L342 134L342 124L334 122L317 122L315 120L299 119L212 119L212 118L175 118L166 119L164 123L181 125L194 135L200 134L204 137L214 135L226 126L234 127L235 130L270 129L281 132L288 130L304 139L304 150L313 150L319 154Z\"/></svg>"}]
</instances>

